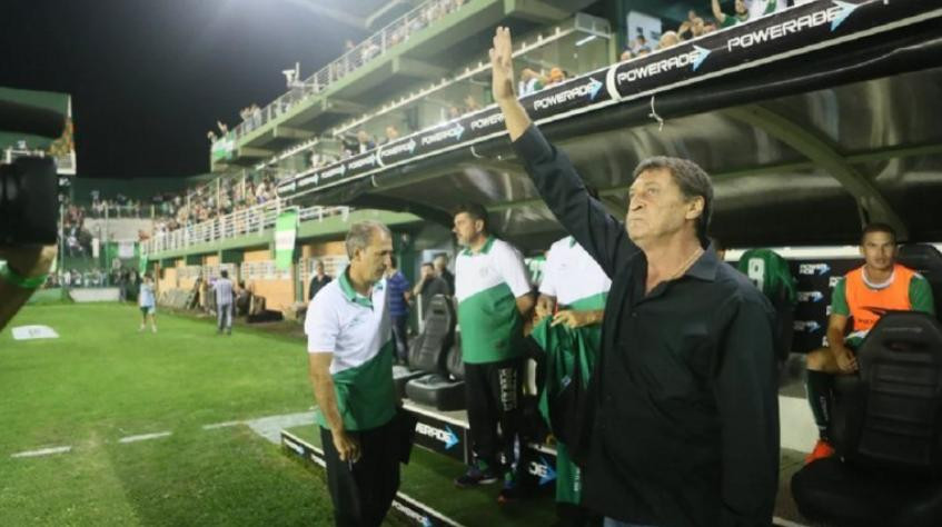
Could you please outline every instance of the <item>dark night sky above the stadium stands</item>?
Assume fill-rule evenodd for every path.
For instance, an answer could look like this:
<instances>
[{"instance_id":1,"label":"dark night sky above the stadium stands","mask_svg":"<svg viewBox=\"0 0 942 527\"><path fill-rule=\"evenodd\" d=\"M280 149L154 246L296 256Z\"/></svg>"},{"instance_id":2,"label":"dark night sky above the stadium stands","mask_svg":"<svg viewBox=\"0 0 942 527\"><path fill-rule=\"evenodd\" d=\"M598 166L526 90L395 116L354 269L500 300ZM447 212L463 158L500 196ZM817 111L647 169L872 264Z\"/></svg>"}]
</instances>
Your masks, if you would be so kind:
<instances>
[{"instance_id":1,"label":"dark night sky above the stadium stands","mask_svg":"<svg viewBox=\"0 0 942 527\"><path fill-rule=\"evenodd\" d=\"M304 0L317 2L318 0ZM0 86L72 96L79 177L209 169L206 131L363 32L289 0L3 0Z\"/></svg>"}]
</instances>

